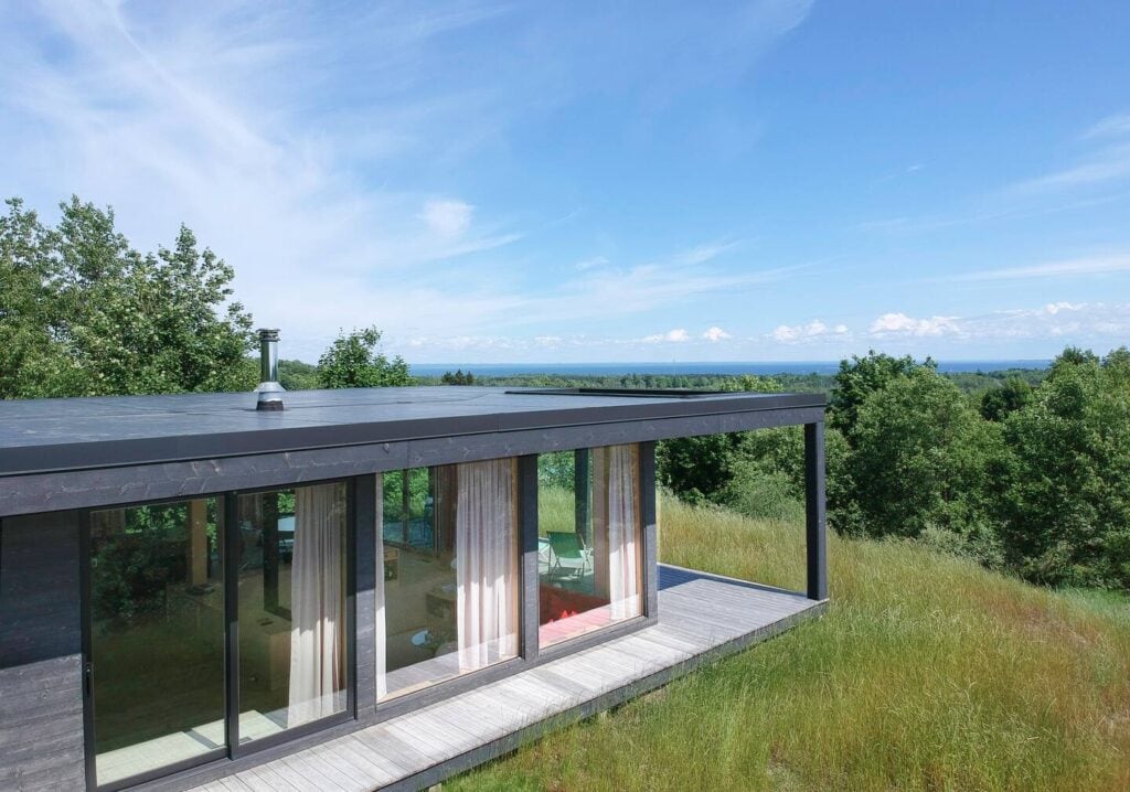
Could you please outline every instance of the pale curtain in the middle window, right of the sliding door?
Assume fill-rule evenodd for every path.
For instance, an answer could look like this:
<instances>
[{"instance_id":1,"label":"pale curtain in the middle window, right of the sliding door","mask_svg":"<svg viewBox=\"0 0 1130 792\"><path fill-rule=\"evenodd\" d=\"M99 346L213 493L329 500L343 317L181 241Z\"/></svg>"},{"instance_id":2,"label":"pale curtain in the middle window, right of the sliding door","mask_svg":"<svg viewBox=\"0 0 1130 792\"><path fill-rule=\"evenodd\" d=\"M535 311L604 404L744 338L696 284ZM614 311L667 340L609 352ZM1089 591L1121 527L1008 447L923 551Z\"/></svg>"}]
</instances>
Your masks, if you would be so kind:
<instances>
[{"instance_id":1,"label":"pale curtain in the middle window, right of the sliding door","mask_svg":"<svg viewBox=\"0 0 1130 792\"><path fill-rule=\"evenodd\" d=\"M459 670L473 671L518 654L514 462L468 462L457 476Z\"/></svg>"}]
</instances>

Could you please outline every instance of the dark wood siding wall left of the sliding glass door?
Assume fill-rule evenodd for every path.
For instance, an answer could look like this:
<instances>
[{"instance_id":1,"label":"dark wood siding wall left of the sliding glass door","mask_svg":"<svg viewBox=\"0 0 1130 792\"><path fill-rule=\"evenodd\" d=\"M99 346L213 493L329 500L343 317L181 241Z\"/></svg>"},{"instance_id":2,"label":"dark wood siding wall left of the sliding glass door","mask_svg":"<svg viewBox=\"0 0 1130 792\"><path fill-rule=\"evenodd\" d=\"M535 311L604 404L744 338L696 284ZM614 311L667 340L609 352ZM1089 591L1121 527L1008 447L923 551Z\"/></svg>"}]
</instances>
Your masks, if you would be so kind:
<instances>
[{"instance_id":1,"label":"dark wood siding wall left of the sliding glass door","mask_svg":"<svg viewBox=\"0 0 1130 792\"><path fill-rule=\"evenodd\" d=\"M0 789L81 790L75 512L0 523Z\"/></svg>"}]
</instances>

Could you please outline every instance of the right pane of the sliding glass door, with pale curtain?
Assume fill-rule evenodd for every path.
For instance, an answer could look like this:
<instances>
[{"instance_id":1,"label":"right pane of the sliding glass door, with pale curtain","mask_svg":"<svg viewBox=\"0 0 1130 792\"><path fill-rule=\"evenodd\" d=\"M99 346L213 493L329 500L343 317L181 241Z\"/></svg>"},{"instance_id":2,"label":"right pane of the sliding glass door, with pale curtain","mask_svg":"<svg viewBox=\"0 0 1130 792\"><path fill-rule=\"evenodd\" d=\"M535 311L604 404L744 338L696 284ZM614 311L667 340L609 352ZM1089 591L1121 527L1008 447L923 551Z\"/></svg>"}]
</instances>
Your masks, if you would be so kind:
<instances>
[{"instance_id":1,"label":"right pane of the sliding glass door, with pale curtain","mask_svg":"<svg viewBox=\"0 0 1130 792\"><path fill-rule=\"evenodd\" d=\"M345 712L345 484L241 495L240 742Z\"/></svg>"}]
</instances>

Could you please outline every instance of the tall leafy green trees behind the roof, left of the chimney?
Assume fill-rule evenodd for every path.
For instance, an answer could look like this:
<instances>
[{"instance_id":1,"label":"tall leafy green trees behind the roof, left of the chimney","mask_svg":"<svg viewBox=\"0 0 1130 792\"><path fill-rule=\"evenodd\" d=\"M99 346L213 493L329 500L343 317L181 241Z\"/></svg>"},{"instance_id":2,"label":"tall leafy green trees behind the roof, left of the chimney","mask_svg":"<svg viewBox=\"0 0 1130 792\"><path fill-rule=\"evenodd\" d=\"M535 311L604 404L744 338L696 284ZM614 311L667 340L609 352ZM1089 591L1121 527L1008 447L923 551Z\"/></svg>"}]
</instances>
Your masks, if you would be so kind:
<instances>
[{"instance_id":1,"label":"tall leafy green trees behind the roof, left of the chimney","mask_svg":"<svg viewBox=\"0 0 1130 792\"><path fill-rule=\"evenodd\" d=\"M181 227L142 255L112 209L78 198L58 227L23 202L0 218L0 397L250 390L251 316L234 272Z\"/></svg>"}]
</instances>

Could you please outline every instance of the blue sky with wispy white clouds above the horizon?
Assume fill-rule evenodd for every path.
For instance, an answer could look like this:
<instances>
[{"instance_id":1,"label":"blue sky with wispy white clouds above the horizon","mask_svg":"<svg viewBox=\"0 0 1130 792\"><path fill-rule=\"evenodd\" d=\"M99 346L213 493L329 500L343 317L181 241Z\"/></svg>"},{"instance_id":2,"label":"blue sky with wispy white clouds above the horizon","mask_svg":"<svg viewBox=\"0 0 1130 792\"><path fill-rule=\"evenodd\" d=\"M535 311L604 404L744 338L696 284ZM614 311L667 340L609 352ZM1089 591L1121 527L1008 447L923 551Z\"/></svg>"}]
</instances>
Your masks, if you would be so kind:
<instances>
[{"instance_id":1,"label":"blue sky with wispy white clouds above the horizon","mask_svg":"<svg viewBox=\"0 0 1130 792\"><path fill-rule=\"evenodd\" d=\"M185 223L284 356L1130 340L1130 3L0 8L0 174Z\"/></svg>"}]
</instances>

